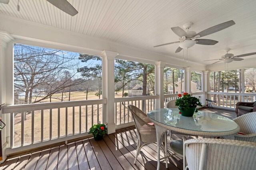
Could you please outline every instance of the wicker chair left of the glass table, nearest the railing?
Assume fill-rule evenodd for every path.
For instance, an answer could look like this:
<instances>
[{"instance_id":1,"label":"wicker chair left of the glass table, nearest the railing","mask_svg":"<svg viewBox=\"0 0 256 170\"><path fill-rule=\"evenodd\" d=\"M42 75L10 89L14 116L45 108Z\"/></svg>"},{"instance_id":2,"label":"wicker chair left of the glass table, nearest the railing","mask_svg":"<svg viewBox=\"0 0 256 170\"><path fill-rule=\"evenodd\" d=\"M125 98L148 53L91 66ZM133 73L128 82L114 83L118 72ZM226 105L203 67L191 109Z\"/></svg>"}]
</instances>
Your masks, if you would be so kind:
<instances>
[{"instance_id":1,"label":"wicker chair left of the glass table, nearest the railing","mask_svg":"<svg viewBox=\"0 0 256 170\"><path fill-rule=\"evenodd\" d=\"M156 127L152 125L150 119L148 119L147 114L144 113L142 110L140 110L138 107L133 106L133 105L128 105L128 109L132 113L132 117L135 122L135 127L137 130L137 135L138 135L138 141L137 141L137 152L136 152L136 157L134 160L134 164L136 164L136 160L138 155L140 154L141 148L148 144L148 143L156 143ZM143 143L141 145L141 142ZM182 150L183 148L183 143L180 145L180 141L171 141L172 147L174 147L176 150ZM162 148L164 151L164 149ZM172 148L171 148L172 150ZM176 154L177 152L174 153ZM164 154L166 155L166 151L164 151ZM174 154L172 154L174 155ZM180 154L179 154L180 155ZM167 159L166 159L167 162ZM166 163L167 164L167 163Z\"/></svg>"}]
</instances>

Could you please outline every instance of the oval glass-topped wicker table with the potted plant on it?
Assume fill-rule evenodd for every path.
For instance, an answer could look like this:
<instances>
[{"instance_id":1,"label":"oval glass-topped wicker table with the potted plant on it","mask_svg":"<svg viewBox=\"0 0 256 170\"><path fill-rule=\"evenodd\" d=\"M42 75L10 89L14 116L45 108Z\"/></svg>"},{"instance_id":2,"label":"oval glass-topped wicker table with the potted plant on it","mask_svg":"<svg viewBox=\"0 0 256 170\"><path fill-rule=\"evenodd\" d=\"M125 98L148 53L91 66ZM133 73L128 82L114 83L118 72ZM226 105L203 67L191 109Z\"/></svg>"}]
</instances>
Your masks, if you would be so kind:
<instances>
[{"instance_id":1,"label":"oval glass-topped wicker table with the potted plant on it","mask_svg":"<svg viewBox=\"0 0 256 170\"><path fill-rule=\"evenodd\" d=\"M161 140L168 130L208 137L232 136L240 130L239 126L231 119L205 111L198 111L194 113L193 117L185 117L179 114L179 110L175 108L155 109L148 112L147 116L156 126L158 170L160 168Z\"/></svg>"}]
</instances>

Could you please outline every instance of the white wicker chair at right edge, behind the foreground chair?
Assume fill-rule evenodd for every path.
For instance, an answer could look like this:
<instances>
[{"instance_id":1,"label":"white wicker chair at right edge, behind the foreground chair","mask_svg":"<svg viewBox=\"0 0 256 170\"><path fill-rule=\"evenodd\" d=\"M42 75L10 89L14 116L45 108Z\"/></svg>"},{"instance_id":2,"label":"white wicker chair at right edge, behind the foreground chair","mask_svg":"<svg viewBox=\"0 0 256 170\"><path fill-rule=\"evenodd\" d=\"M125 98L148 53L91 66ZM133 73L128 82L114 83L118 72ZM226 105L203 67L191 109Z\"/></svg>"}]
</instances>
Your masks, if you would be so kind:
<instances>
[{"instance_id":1,"label":"white wicker chair at right edge, behind the foreground chair","mask_svg":"<svg viewBox=\"0 0 256 170\"><path fill-rule=\"evenodd\" d=\"M235 135L235 140L256 142L256 112L247 113L233 119L239 127L240 132L246 135Z\"/></svg>"}]
</instances>

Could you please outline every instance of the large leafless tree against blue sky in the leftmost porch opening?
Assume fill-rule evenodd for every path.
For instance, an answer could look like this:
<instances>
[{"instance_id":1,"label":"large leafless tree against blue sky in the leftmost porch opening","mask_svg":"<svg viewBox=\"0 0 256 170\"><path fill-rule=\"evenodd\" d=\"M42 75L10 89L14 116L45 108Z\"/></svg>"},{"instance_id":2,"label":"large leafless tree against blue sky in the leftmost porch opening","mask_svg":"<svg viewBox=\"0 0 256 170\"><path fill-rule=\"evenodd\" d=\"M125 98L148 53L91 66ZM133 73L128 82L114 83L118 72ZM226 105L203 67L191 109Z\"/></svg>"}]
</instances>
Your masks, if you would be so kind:
<instances>
[{"instance_id":1,"label":"large leafless tree against blue sky in the leftmost porch opening","mask_svg":"<svg viewBox=\"0 0 256 170\"><path fill-rule=\"evenodd\" d=\"M42 102L56 92L82 83L60 82L64 71L72 70L74 78L76 55L60 50L14 44L14 94L24 104Z\"/></svg>"}]
</instances>

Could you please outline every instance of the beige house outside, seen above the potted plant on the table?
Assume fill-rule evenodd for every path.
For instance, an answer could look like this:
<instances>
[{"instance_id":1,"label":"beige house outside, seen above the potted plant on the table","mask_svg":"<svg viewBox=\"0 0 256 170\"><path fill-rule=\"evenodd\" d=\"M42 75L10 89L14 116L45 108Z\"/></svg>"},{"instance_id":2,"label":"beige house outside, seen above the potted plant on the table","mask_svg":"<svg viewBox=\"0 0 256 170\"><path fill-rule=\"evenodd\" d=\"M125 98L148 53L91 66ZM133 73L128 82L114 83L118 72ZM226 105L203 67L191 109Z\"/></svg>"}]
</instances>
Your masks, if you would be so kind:
<instances>
[{"instance_id":1,"label":"beige house outside, seen above the potted plant on the table","mask_svg":"<svg viewBox=\"0 0 256 170\"><path fill-rule=\"evenodd\" d=\"M174 83L175 86L175 94L184 93L184 79L179 80L178 82ZM196 83L191 81L191 92L201 92L201 90L196 89ZM168 94L173 94L173 86L172 83L168 84Z\"/></svg>"}]
</instances>

